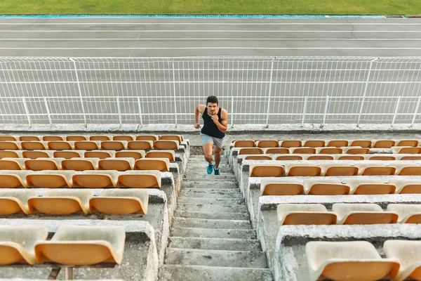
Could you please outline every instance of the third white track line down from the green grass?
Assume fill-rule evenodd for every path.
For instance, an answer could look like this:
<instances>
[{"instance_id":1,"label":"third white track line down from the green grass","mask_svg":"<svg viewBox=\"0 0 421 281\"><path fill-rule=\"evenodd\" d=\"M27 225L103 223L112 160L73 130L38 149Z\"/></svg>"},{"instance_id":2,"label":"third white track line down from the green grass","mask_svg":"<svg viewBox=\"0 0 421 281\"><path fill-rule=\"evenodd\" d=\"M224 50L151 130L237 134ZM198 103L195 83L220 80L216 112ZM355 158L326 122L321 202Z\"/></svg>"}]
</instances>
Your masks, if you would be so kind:
<instances>
[{"instance_id":1,"label":"third white track line down from the green grass","mask_svg":"<svg viewBox=\"0 0 421 281\"><path fill-rule=\"evenodd\" d=\"M421 41L421 38L4 38L0 41Z\"/></svg>"}]
</instances>

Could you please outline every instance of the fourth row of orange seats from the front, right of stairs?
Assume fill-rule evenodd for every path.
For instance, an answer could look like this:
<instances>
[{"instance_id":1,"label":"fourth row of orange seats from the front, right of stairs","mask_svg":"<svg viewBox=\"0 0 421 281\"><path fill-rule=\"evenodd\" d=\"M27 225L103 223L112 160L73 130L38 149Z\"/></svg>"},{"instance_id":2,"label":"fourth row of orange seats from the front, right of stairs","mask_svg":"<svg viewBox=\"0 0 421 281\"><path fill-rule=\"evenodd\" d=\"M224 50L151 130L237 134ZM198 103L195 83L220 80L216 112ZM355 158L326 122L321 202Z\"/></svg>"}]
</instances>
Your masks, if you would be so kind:
<instances>
[{"instance_id":1,"label":"fourth row of orange seats from the front, right of stairs","mask_svg":"<svg viewBox=\"0 0 421 281\"><path fill-rule=\"evenodd\" d=\"M421 165L413 162L331 161L330 163L286 162L250 164L249 176L421 176Z\"/></svg>"}]
</instances>

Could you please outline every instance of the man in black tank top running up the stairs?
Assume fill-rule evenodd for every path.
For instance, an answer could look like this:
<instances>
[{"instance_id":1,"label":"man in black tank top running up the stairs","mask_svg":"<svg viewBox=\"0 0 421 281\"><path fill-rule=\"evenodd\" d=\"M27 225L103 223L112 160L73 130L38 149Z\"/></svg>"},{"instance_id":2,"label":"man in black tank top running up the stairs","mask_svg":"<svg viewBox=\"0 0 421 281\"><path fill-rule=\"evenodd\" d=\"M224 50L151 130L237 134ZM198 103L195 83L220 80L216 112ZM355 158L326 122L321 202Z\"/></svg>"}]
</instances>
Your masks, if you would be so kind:
<instances>
[{"instance_id":1,"label":"man in black tank top running up the stairs","mask_svg":"<svg viewBox=\"0 0 421 281\"><path fill-rule=\"evenodd\" d=\"M218 98L208 96L206 105L197 105L194 111L194 128L200 129L199 114L203 118L203 128L200 135L202 136L202 146L205 159L208 162L206 171L215 175L219 175L219 164L222 155L222 144L225 132L228 129L228 112L219 107ZM212 159L212 147L215 152L215 164Z\"/></svg>"}]
</instances>

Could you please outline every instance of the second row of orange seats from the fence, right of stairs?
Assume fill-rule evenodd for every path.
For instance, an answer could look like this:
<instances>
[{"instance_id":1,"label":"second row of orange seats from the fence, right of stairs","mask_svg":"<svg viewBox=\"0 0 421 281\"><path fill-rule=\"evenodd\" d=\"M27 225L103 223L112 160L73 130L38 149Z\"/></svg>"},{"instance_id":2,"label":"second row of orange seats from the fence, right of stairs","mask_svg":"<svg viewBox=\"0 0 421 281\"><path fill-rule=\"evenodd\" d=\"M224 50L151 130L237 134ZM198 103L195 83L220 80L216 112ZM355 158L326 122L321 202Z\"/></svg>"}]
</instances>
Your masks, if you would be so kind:
<instances>
[{"instance_id":1,"label":"second row of orange seats from the fence, right of stairs","mask_svg":"<svg viewBox=\"0 0 421 281\"><path fill-rule=\"evenodd\" d=\"M420 154L421 147L410 147L410 146L394 146L391 148L392 154ZM342 148L240 148L238 150L239 155L267 155L267 154L368 154L370 148L361 148L356 146L342 147Z\"/></svg>"}]
</instances>

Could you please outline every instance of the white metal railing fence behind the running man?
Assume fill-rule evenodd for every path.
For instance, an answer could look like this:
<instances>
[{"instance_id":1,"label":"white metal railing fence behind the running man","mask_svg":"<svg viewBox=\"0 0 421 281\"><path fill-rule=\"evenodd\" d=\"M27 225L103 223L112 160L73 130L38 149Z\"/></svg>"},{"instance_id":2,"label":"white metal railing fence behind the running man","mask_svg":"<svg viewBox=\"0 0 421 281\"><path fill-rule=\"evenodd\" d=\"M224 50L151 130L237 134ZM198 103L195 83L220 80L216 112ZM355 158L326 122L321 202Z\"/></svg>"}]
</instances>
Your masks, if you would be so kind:
<instances>
[{"instance_id":1,"label":"white metal railing fence behind the running man","mask_svg":"<svg viewBox=\"0 0 421 281\"><path fill-rule=\"evenodd\" d=\"M0 124L420 124L421 58L0 57Z\"/></svg>"}]
</instances>

